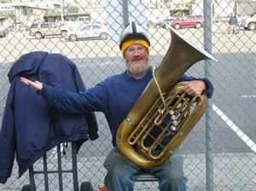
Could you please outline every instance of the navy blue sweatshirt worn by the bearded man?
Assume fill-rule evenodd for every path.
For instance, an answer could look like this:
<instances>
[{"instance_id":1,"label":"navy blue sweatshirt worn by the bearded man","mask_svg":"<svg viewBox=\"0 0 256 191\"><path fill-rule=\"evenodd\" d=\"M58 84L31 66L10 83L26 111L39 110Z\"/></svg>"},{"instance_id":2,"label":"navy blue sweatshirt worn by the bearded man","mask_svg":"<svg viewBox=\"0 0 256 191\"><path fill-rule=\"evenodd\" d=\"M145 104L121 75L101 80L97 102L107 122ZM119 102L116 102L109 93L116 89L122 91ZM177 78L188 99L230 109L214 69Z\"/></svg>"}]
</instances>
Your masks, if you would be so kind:
<instances>
[{"instance_id":1,"label":"navy blue sweatshirt worn by the bearded man","mask_svg":"<svg viewBox=\"0 0 256 191\"><path fill-rule=\"evenodd\" d=\"M143 90L152 78L152 71L139 79L132 78L128 72L113 75L95 87L75 93L55 89L44 84L41 95L57 109L70 113L102 112L108 121L113 136L113 146L116 147L116 133L119 124L130 112L131 107L141 96ZM212 97L213 86L207 78L193 78L183 75L178 81L201 79L207 84L207 96Z\"/></svg>"}]
</instances>

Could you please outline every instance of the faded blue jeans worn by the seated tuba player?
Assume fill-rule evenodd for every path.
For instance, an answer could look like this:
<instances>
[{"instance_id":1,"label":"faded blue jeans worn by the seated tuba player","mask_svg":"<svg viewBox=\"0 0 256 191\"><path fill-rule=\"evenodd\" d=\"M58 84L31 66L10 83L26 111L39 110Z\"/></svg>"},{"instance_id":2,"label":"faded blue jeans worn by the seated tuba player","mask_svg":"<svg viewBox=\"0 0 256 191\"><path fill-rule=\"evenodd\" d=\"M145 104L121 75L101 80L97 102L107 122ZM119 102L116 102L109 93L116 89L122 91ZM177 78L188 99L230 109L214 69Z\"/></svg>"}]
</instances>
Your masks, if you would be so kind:
<instances>
[{"instance_id":1,"label":"faded blue jeans worn by the seated tuba player","mask_svg":"<svg viewBox=\"0 0 256 191\"><path fill-rule=\"evenodd\" d=\"M108 154L104 167L108 170L104 180L108 191L132 191L137 173L143 171L125 159L118 148L113 148ZM186 190L187 179L183 175L183 157L177 152L173 153L166 163L147 172L159 179L160 191Z\"/></svg>"}]
</instances>

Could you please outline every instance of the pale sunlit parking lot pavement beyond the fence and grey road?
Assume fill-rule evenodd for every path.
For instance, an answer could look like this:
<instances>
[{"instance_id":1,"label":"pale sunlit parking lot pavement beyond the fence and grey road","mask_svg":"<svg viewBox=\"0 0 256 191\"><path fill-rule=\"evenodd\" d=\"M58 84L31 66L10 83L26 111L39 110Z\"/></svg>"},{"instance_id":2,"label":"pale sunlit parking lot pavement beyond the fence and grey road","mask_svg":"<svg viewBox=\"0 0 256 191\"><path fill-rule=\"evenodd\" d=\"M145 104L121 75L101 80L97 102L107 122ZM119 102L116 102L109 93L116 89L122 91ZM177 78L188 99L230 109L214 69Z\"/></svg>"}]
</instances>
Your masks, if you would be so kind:
<instances>
[{"instance_id":1,"label":"pale sunlit parking lot pavement beyond the fence and grey road","mask_svg":"<svg viewBox=\"0 0 256 191\"><path fill-rule=\"evenodd\" d=\"M253 37L255 31L244 31L240 33L228 34L226 23L214 23L212 25L212 53L236 53L255 51ZM152 55L165 55L166 49L170 42L170 33L164 28L149 28L152 37ZM189 39L192 43L202 46L203 29L180 29L178 32L183 34L185 39ZM33 38L27 31L16 30L10 32L7 37L0 38L1 58L0 63L8 63L15 61L15 58L29 51L44 50L49 52L61 52L71 58L94 58L94 57L112 57L119 55L118 43L110 39L83 39L77 42L69 42L69 40L61 37L45 37L42 39ZM84 45L86 43L86 45ZM202 48L202 47L201 47ZM19 49L19 50L17 50ZM93 49L93 51L91 51ZM12 54L10 54L10 51ZM79 54L74 54L79 53ZM106 54L108 53L108 55Z\"/></svg>"}]
</instances>

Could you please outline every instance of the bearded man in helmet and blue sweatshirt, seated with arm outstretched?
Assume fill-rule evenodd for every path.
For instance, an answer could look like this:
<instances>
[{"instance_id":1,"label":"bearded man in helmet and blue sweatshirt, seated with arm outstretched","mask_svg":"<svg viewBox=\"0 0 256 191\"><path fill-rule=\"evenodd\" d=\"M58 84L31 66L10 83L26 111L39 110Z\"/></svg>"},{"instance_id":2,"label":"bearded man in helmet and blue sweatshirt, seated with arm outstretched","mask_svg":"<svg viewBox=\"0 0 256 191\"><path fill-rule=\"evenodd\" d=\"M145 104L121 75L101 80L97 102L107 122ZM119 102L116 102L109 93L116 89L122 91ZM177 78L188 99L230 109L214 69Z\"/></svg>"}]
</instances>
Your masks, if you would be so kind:
<instances>
[{"instance_id":1,"label":"bearded man in helmet and blue sweatshirt, seated with arm outstretched","mask_svg":"<svg viewBox=\"0 0 256 191\"><path fill-rule=\"evenodd\" d=\"M114 147L104 162L104 167L108 170L104 183L109 191L133 190L137 172L142 171L119 153L119 149L116 148L116 132L119 124L125 119L152 78L152 70L148 65L149 47L149 38L143 27L131 22L119 43L126 71L113 75L81 93L64 92L38 81L20 78L21 82L38 90L41 96L44 96L45 100L55 108L72 113L101 111L105 114L113 136ZM206 78L196 79L183 75L180 81L183 81L189 95L199 95L206 90L207 96L212 96L212 83ZM186 190L183 158L177 152L173 153L166 163L148 169L148 172L158 177L160 191Z\"/></svg>"}]
</instances>

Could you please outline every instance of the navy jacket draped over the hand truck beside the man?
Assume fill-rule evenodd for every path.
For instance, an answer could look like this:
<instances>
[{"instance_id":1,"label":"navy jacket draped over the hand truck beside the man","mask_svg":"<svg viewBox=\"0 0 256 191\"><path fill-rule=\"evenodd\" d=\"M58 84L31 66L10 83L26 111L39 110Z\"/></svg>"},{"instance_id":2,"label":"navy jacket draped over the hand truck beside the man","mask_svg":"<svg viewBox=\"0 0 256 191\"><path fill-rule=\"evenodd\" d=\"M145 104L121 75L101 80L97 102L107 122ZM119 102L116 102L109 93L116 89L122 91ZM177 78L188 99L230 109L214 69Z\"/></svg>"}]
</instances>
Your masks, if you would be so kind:
<instances>
[{"instance_id":1,"label":"navy jacket draped over the hand truck beside the man","mask_svg":"<svg viewBox=\"0 0 256 191\"><path fill-rule=\"evenodd\" d=\"M80 147L89 138L98 137L94 113L82 116L55 111L35 90L20 83L21 76L61 90L84 90L77 67L67 57L39 51L20 56L9 71L11 85L0 132L1 183L10 177L15 158L20 177L57 144L77 142Z\"/></svg>"}]
</instances>

